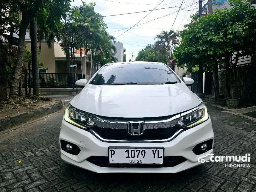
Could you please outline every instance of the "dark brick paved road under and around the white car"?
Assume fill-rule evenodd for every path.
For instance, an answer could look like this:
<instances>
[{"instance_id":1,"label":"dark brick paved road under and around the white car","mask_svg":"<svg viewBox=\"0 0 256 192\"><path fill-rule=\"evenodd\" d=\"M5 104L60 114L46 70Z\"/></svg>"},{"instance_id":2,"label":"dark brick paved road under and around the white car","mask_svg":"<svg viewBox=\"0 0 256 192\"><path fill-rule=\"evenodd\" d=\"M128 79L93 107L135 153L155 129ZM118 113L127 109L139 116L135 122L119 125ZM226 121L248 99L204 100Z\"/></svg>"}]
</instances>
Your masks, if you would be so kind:
<instances>
[{"instance_id":1,"label":"dark brick paved road under and around the white car","mask_svg":"<svg viewBox=\"0 0 256 192\"><path fill-rule=\"evenodd\" d=\"M210 162L178 174L95 174L60 159L61 111L0 133L0 191L256 191L256 122L212 107L209 111L214 154L250 153L249 168Z\"/></svg>"}]
</instances>

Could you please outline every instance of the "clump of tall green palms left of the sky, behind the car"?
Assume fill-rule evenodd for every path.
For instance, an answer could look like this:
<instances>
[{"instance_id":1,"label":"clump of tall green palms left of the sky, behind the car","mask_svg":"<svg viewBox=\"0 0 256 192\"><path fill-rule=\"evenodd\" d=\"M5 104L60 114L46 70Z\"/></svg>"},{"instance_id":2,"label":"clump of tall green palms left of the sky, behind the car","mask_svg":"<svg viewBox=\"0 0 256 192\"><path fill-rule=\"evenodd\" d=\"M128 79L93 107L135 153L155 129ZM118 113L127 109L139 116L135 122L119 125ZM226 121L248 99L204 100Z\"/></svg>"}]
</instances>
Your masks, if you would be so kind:
<instances>
[{"instance_id":1,"label":"clump of tall green palms left of the sky, behind the car","mask_svg":"<svg viewBox=\"0 0 256 192\"><path fill-rule=\"evenodd\" d=\"M81 6L72 7L67 18L64 18L63 28L60 30L60 46L66 54L68 68L71 37L74 39L76 49L85 50L86 58L88 50L91 51L90 77L98 70L99 65L117 61L114 57L116 47L111 43L115 38L106 32L107 25L103 21L103 16L94 11L95 6L94 2L86 4L82 1ZM87 71L86 68L85 65L85 71Z\"/></svg>"}]
</instances>

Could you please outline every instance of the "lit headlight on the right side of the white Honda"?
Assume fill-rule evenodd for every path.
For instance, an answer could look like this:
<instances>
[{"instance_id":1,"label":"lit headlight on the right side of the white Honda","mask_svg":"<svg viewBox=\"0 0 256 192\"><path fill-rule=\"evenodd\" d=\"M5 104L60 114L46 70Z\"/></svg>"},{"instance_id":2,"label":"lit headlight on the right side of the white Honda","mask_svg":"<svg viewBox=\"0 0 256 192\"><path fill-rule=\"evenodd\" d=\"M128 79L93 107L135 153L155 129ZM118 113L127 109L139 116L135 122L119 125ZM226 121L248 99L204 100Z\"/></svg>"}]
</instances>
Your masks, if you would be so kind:
<instances>
[{"instance_id":1,"label":"lit headlight on the right side of the white Honda","mask_svg":"<svg viewBox=\"0 0 256 192\"><path fill-rule=\"evenodd\" d=\"M209 118L207 107L202 102L198 107L194 108L193 112L183 115L177 125L181 127L191 128L194 127Z\"/></svg>"}]
</instances>

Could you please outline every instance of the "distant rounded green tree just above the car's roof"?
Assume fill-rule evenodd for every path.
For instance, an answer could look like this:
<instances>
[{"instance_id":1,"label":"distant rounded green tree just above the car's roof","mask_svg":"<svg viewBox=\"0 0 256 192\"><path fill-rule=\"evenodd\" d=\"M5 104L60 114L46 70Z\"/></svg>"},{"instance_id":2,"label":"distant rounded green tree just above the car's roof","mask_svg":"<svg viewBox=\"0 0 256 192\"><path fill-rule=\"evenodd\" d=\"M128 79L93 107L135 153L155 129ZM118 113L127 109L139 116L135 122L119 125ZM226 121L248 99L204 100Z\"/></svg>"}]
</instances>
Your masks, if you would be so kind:
<instances>
[{"instance_id":1,"label":"distant rounded green tree just above the car's roof","mask_svg":"<svg viewBox=\"0 0 256 192\"><path fill-rule=\"evenodd\" d=\"M145 49L141 49L138 52L136 61L151 61L151 62L161 62L166 63L166 57L163 53L158 53L154 49L154 45L147 45Z\"/></svg>"}]
</instances>

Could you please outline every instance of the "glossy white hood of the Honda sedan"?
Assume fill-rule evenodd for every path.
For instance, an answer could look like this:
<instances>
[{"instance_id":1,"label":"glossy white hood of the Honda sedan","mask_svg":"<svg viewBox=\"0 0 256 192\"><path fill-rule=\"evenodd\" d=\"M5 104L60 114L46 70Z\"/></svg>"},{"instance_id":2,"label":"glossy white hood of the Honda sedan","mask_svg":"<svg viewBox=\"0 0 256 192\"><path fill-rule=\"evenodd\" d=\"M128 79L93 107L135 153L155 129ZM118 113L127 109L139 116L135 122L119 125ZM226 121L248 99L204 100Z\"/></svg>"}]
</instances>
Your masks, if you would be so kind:
<instances>
[{"instance_id":1,"label":"glossy white hood of the Honda sedan","mask_svg":"<svg viewBox=\"0 0 256 192\"><path fill-rule=\"evenodd\" d=\"M105 117L163 117L201 103L184 83L170 85L91 85L71 101L82 111Z\"/></svg>"}]
</instances>

